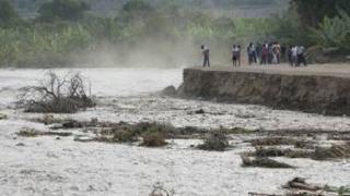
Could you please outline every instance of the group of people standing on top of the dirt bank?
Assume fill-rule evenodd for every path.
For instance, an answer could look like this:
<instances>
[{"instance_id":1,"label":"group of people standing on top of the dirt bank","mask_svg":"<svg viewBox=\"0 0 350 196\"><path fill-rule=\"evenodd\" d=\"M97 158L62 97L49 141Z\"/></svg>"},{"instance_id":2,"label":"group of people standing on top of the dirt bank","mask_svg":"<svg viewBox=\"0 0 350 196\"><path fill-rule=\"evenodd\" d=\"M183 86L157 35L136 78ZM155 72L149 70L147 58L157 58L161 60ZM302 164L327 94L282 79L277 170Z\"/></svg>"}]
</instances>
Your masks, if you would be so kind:
<instances>
[{"instance_id":1,"label":"group of people standing on top of the dirt bank","mask_svg":"<svg viewBox=\"0 0 350 196\"><path fill-rule=\"evenodd\" d=\"M203 66L210 66L209 48L201 46L203 54ZM306 66L305 47L281 46L279 42L253 44L250 42L246 49L248 64L279 64L281 61L289 61L291 66L299 66L304 64ZM232 64L233 66L241 66L242 47L241 45L232 46Z\"/></svg>"}]
</instances>

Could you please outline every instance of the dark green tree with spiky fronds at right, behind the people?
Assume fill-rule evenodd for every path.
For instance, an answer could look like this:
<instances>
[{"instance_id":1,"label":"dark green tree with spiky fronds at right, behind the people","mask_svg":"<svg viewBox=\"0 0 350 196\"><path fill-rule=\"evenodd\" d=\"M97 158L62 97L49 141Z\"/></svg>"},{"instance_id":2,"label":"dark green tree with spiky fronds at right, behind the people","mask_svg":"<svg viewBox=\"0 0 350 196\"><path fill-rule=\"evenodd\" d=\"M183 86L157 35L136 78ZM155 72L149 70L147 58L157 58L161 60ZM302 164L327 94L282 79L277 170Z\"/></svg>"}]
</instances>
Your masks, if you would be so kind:
<instances>
[{"instance_id":1,"label":"dark green tree with spiky fronds at right, behind the people","mask_svg":"<svg viewBox=\"0 0 350 196\"><path fill-rule=\"evenodd\" d=\"M342 57L349 56L350 1L291 0L290 4L289 13L298 13L294 17L300 29L295 33L299 35L295 36L296 41L311 47L310 57L316 61L318 58L323 58L322 61L342 61ZM328 60L325 60L325 56Z\"/></svg>"}]
</instances>

